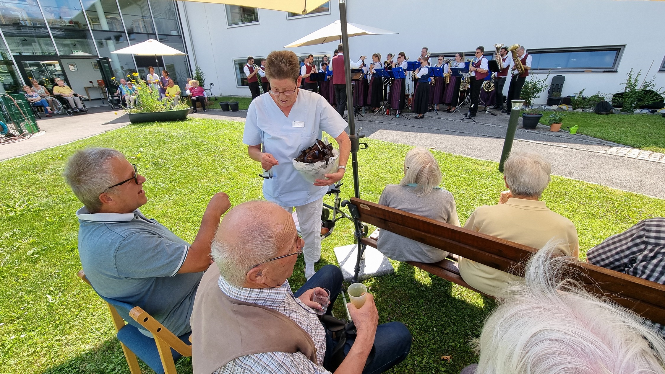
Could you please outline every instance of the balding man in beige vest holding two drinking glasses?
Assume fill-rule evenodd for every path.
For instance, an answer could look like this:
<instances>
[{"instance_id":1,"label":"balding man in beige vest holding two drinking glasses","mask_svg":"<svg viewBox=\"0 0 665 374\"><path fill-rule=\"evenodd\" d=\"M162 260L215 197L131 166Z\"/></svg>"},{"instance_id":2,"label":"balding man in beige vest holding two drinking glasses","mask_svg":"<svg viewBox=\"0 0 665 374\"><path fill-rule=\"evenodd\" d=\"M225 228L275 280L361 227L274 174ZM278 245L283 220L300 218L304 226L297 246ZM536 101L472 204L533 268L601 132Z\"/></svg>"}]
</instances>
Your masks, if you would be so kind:
<instances>
[{"instance_id":1,"label":"balding man in beige vest holding two drinking glasses","mask_svg":"<svg viewBox=\"0 0 665 374\"><path fill-rule=\"evenodd\" d=\"M291 213L275 203L249 201L225 215L212 244L216 266L205 272L192 312L195 374L378 374L404 360L411 334L400 322L377 326L372 294L362 308L348 304L357 336L333 353L337 341L317 317L321 304L311 300L329 290L331 314L342 272L324 266L293 294L287 278L303 244Z\"/></svg>"}]
</instances>

